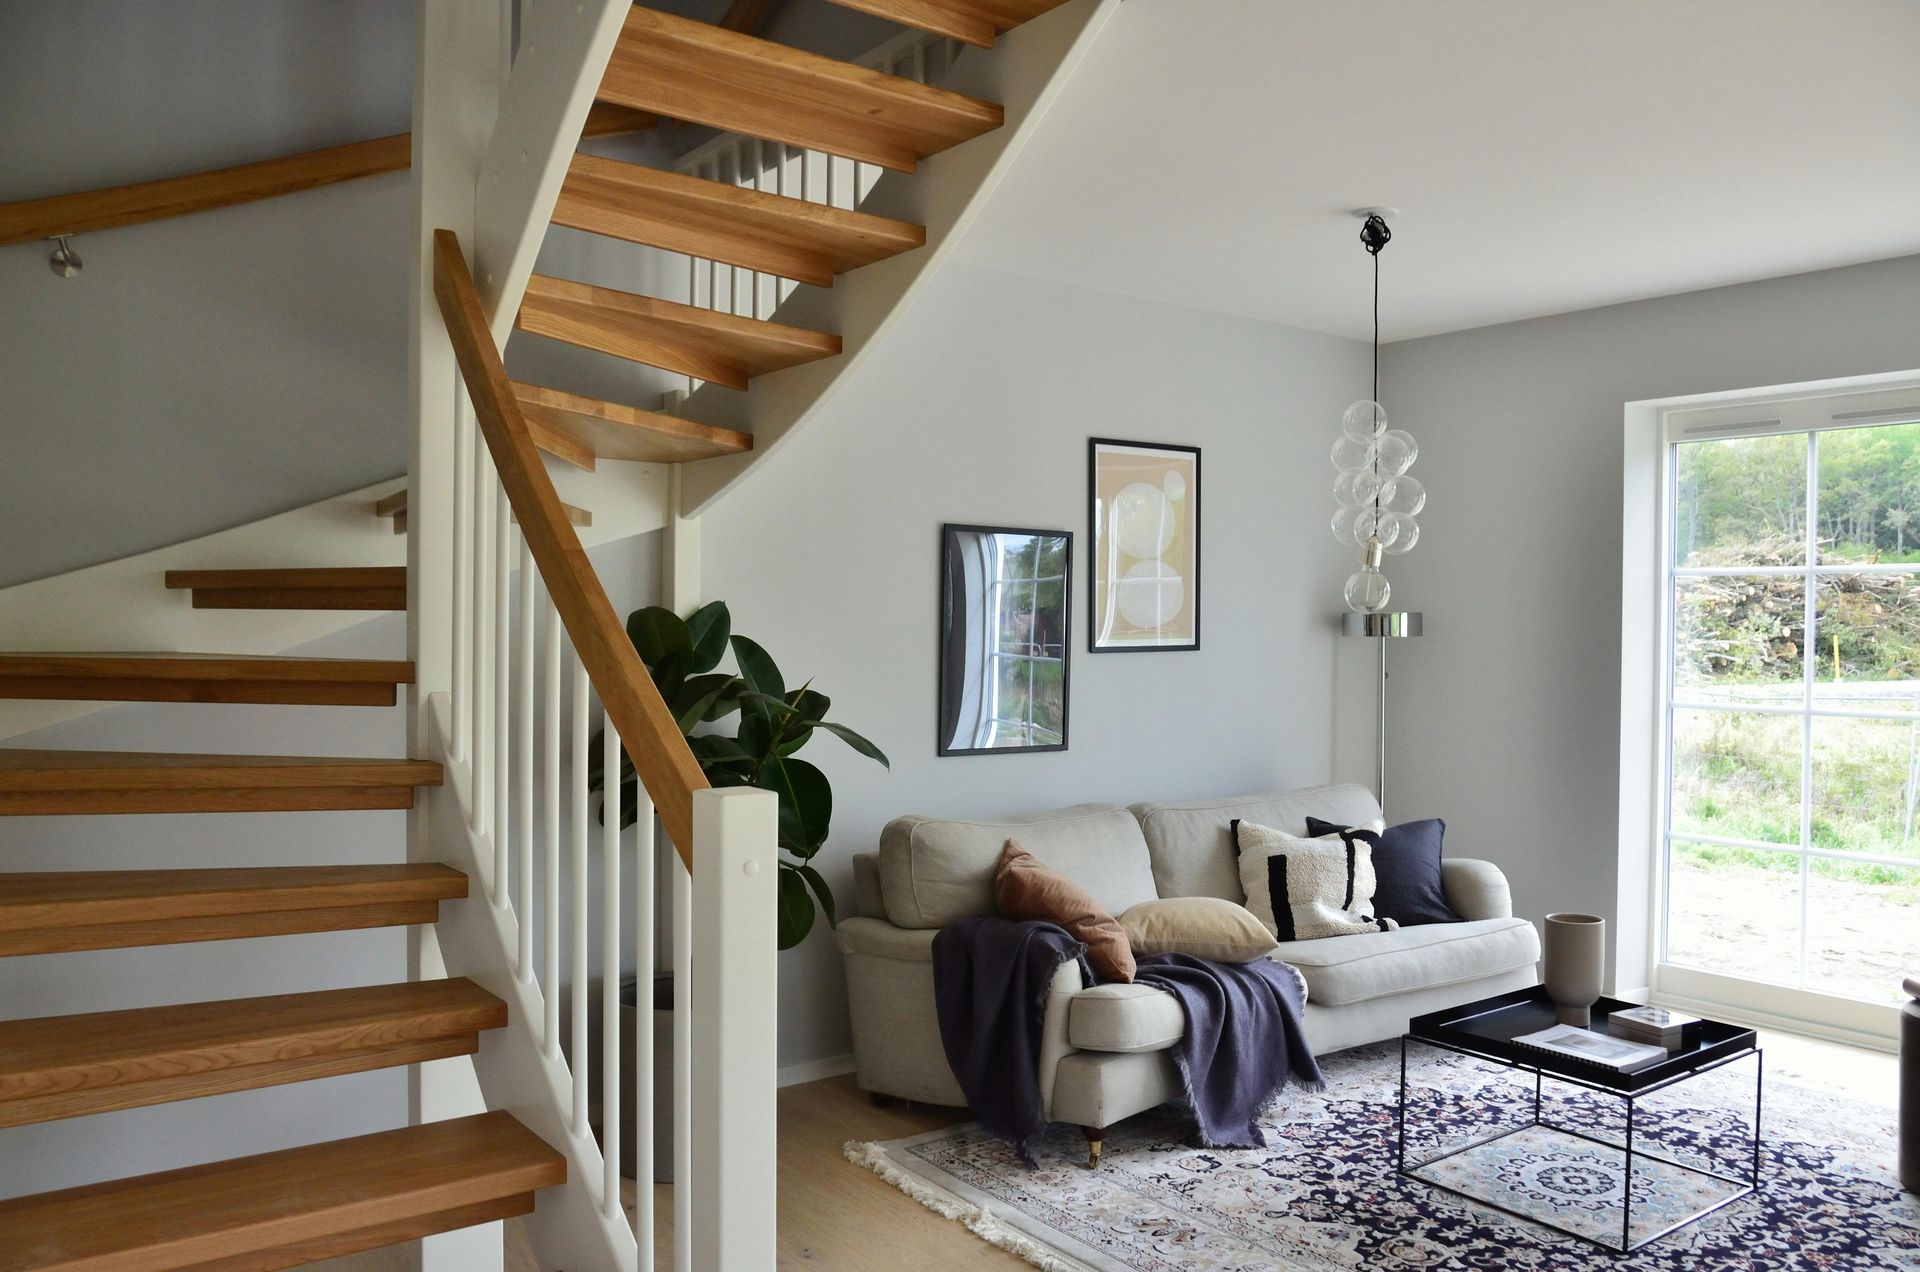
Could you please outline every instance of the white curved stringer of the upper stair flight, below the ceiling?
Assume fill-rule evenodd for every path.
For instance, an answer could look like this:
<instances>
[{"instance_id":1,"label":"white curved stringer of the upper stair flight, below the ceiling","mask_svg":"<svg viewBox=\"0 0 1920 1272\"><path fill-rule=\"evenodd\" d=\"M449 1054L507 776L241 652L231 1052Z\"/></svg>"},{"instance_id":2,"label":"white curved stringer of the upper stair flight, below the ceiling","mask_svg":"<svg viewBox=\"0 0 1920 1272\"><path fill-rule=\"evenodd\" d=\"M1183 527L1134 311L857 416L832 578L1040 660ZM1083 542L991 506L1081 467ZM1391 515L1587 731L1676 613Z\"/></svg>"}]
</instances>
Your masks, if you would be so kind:
<instances>
[{"instance_id":1,"label":"white curved stringer of the upper stair flight, below the ceiling","mask_svg":"<svg viewBox=\"0 0 1920 1272\"><path fill-rule=\"evenodd\" d=\"M689 417L753 432L753 450L687 465L682 517L712 507L776 453L818 415L841 380L906 313L1012 169L1119 4L1073 0L1008 31L991 52L968 50L954 63L943 86L1000 102L1006 123L922 159L918 173L887 173L860 204L860 211L925 225L927 246L864 265L835 279L831 288L801 288L780 306L776 317L781 323L839 332L839 357L756 377L745 394L716 384L693 392Z\"/></svg>"}]
</instances>

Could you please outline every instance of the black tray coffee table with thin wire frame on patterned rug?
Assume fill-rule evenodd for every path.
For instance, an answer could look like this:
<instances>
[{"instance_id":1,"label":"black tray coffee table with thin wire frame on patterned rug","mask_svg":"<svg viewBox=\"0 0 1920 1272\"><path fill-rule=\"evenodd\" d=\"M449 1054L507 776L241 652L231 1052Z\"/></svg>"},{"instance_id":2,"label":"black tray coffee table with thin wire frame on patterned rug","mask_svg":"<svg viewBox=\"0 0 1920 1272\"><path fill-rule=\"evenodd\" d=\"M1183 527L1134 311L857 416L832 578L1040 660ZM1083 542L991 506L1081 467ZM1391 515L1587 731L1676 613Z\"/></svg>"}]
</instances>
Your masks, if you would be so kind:
<instances>
[{"instance_id":1,"label":"black tray coffee table with thin wire frame on patterned rug","mask_svg":"<svg viewBox=\"0 0 1920 1272\"><path fill-rule=\"evenodd\" d=\"M1634 1007L1634 1003L1622 1003L1619 999L1599 999L1594 1003L1592 1028L1601 1034L1607 1032L1607 1016L1615 1011L1624 1011ZM1434 1011L1425 1016L1413 1016L1407 1022L1407 1032L1400 1040L1400 1107L1398 1107L1398 1128L1400 1128L1400 1147L1398 1147L1398 1170L1400 1174L1419 1180L1428 1187L1440 1187L1469 1201L1478 1201L1480 1205L1494 1207L1515 1218L1524 1218L1528 1222L1546 1224L1565 1232L1567 1235L1580 1237L1582 1241L1592 1241L1594 1245L1611 1253L1632 1253L1649 1241L1657 1241L1667 1234L1692 1224L1693 1220L1718 1211L1724 1205L1732 1205L1741 1197L1751 1195L1761 1186L1761 1049L1755 1045L1753 1030L1741 1028L1738 1024L1722 1024L1718 1020L1701 1020L1699 1024L1690 1024L1680 1040L1680 1045L1668 1047L1665 1061L1655 1061L1647 1068L1636 1072L1619 1072L1597 1061L1586 1061L1571 1055L1557 1055L1551 1051L1540 1051L1513 1040L1523 1034L1534 1034L1555 1024L1555 1009L1551 999L1548 999L1546 988L1534 986L1532 990L1515 990L1513 993L1501 993L1498 997L1480 999L1476 1003L1465 1003L1461 1007L1450 1007L1448 1011ZM1427 1047L1436 1047L1440 1051L1453 1051L1457 1055L1475 1057L1480 1061L1490 1061L1494 1064L1505 1064L1509 1068L1519 1068L1534 1076L1534 1109L1532 1120L1524 1126L1513 1126L1507 1130L1498 1130L1471 1143L1465 1143L1446 1153L1438 1153L1419 1162L1407 1162L1407 1043L1421 1043ZM1688 1162L1663 1157L1659 1153L1649 1153L1645 1145L1634 1143L1634 1105L1636 1101L1663 1091L1676 1082L1686 1082L1699 1074L1734 1064L1740 1061L1753 1061L1753 1161L1751 1170L1745 1178L1720 1174L1716 1170L1705 1170ZM1601 1139L1590 1130L1580 1130L1572 1126L1561 1126L1557 1122L1548 1122L1540 1116L1540 1089L1546 1078L1555 1082L1565 1082L1588 1091L1597 1091L1601 1095L1615 1095L1626 1105L1626 1137L1624 1141ZM1620 1189L1620 1241L1594 1237L1584 1232L1576 1232L1553 1220L1542 1218L1540 1214L1526 1214L1523 1211L1509 1209L1492 1197L1455 1187L1453 1184L1442 1184L1438 1180L1427 1178L1423 1170L1430 1170L1442 1161L1459 1157L1461 1153L1471 1153L1473 1149L1484 1147L1496 1139L1505 1139L1507 1136L1517 1136L1532 1128L1546 1128L1559 1136L1571 1136L1574 1139L1584 1139L1588 1143L1599 1143L1617 1153L1624 1153L1626 1180ZM1693 1176L1703 1176L1711 1180L1720 1180L1722 1184L1736 1186L1736 1191L1715 1199L1697 1211L1682 1214L1672 1222L1665 1224L1657 1232L1634 1237L1634 1161L1657 1161L1670 1168L1684 1170Z\"/></svg>"}]
</instances>

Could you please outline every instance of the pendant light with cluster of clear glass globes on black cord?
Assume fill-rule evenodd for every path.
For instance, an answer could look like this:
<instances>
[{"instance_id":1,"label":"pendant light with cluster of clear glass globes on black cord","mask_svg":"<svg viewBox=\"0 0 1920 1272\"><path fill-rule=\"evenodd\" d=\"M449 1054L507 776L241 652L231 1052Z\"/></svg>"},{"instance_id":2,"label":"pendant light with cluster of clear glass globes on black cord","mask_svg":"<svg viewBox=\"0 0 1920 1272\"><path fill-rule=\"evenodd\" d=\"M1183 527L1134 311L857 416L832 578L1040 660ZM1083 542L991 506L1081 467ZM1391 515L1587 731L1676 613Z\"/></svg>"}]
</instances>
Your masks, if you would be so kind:
<instances>
[{"instance_id":1,"label":"pendant light with cluster of clear glass globes on black cord","mask_svg":"<svg viewBox=\"0 0 1920 1272\"><path fill-rule=\"evenodd\" d=\"M1373 257L1373 398L1356 402L1340 417L1332 444L1332 536L1359 548L1359 569L1346 580L1346 607L1354 613L1386 609L1394 588L1380 573L1386 555L1405 555L1421 540L1415 521L1427 507L1427 488L1407 475L1421 448L1404 428L1390 428L1380 405L1380 250L1392 242L1388 208L1363 208L1359 242Z\"/></svg>"}]
</instances>

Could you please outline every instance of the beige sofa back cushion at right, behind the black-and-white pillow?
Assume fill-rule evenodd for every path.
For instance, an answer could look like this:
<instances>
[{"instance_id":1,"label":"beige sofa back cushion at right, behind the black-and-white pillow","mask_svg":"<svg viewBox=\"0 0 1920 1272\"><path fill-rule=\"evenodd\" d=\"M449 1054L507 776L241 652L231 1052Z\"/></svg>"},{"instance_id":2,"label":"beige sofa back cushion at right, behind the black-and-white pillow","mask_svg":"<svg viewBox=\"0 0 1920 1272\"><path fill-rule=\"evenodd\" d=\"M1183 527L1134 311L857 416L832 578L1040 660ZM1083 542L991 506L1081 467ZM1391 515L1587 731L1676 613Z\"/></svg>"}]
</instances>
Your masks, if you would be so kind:
<instances>
[{"instance_id":1,"label":"beige sofa back cushion at right, behind the black-and-white pillow","mask_svg":"<svg viewBox=\"0 0 1920 1272\"><path fill-rule=\"evenodd\" d=\"M1265 795L1137 803L1131 813L1146 838L1162 897L1221 897L1246 905L1240 859L1233 849L1236 819L1306 836L1308 817L1361 826L1380 817L1380 805L1365 786L1344 782Z\"/></svg>"}]
</instances>

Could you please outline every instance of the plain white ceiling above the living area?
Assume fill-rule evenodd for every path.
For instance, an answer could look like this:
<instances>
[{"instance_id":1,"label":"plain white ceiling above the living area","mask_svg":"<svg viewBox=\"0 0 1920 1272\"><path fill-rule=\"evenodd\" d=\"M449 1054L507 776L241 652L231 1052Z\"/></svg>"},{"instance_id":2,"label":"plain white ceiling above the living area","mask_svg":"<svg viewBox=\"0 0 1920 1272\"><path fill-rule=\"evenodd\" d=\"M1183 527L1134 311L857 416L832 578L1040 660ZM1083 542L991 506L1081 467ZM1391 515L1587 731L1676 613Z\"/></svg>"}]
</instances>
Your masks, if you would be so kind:
<instances>
[{"instance_id":1,"label":"plain white ceiling above the living area","mask_svg":"<svg viewBox=\"0 0 1920 1272\"><path fill-rule=\"evenodd\" d=\"M1920 252L1916 0L1127 0L995 269L1382 336Z\"/></svg>"}]
</instances>

